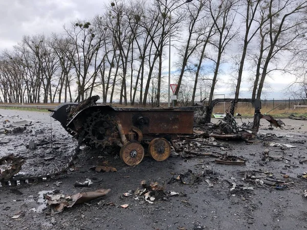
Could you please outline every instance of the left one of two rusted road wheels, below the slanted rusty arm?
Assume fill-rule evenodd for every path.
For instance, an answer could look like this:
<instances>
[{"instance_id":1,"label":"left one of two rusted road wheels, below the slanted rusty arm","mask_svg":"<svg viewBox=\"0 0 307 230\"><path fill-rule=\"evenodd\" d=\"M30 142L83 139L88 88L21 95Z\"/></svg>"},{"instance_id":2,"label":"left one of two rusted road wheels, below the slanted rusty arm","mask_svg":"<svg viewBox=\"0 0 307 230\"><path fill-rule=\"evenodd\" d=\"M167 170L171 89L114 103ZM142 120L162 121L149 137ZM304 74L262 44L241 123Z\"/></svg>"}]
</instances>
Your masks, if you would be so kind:
<instances>
[{"instance_id":1,"label":"left one of two rusted road wheels, below the slanted rusty arm","mask_svg":"<svg viewBox=\"0 0 307 230\"><path fill-rule=\"evenodd\" d=\"M127 165L138 165L144 158L144 148L139 142L127 142L121 147L119 155Z\"/></svg>"}]
</instances>

